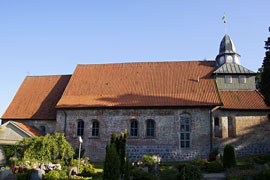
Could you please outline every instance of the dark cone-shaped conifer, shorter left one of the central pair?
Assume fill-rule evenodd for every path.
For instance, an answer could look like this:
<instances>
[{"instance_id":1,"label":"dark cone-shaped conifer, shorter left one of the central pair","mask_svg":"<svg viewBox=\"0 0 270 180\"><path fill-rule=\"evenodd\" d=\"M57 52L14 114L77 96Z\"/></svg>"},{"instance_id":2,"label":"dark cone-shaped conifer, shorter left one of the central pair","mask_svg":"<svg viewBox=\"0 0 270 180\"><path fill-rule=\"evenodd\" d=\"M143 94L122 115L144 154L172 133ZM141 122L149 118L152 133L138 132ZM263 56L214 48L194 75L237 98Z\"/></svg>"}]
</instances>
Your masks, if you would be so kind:
<instances>
[{"instance_id":1,"label":"dark cone-shaped conifer, shorter left one of the central pair","mask_svg":"<svg viewBox=\"0 0 270 180\"><path fill-rule=\"evenodd\" d=\"M119 180L120 160L115 143L106 146L103 180Z\"/></svg>"}]
</instances>

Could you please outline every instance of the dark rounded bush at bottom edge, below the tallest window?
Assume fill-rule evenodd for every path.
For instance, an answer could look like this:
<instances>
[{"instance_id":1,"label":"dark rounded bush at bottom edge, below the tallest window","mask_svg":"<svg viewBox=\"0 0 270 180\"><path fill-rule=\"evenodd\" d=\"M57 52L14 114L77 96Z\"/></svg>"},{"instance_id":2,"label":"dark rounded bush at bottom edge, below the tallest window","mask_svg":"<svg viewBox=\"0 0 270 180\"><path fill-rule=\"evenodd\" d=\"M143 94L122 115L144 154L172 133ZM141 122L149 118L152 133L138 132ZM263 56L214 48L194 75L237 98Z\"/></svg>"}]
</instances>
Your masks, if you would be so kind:
<instances>
[{"instance_id":1,"label":"dark rounded bush at bottom edge, below the tallest window","mask_svg":"<svg viewBox=\"0 0 270 180\"><path fill-rule=\"evenodd\" d=\"M194 165L185 166L177 175L178 180L202 180L202 172L199 167Z\"/></svg>"}]
</instances>

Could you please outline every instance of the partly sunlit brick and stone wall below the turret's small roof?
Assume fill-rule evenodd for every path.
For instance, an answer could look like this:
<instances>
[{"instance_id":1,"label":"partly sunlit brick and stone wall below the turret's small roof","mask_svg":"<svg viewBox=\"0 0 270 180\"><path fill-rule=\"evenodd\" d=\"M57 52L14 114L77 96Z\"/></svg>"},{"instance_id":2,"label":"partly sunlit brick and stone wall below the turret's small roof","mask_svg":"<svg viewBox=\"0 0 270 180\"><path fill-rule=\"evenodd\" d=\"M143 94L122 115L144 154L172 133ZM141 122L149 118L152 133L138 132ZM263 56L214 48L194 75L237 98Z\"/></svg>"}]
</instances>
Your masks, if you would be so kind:
<instances>
[{"instance_id":1,"label":"partly sunlit brick and stone wall below the turret's small roof","mask_svg":"<svg viewBox=\"0 0 270 180\"><path fill-rule=\"evenodd\" d=\"M213 145L223 152L227 144L235 147L238 156L270 153L270 121L264 111L215 111L220 118L222 137L214 137ZM228 137L228 116L233 117L235 137Z\"/></svg>"}]
</instances>

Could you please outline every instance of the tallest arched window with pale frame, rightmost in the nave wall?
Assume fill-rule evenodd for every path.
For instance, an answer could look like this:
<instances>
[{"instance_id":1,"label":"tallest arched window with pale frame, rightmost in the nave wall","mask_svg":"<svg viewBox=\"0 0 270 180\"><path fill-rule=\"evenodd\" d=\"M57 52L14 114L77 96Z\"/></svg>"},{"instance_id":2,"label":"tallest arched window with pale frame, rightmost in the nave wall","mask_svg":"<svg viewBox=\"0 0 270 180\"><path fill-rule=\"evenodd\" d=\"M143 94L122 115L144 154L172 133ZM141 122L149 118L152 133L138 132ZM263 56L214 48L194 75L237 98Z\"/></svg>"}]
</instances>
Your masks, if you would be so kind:
<instances>
[{"instance_id":1,"label":"tallest arched window with pale frame, rightmost in the nave wall","mask_svg":"<svg viewBox=\"0 0 270 180\"><path fill-rule=\"evenodd\" d=\"M190 115L180 115L180 146L181 148L190 148Z\"/></svg>"}]
</instances>

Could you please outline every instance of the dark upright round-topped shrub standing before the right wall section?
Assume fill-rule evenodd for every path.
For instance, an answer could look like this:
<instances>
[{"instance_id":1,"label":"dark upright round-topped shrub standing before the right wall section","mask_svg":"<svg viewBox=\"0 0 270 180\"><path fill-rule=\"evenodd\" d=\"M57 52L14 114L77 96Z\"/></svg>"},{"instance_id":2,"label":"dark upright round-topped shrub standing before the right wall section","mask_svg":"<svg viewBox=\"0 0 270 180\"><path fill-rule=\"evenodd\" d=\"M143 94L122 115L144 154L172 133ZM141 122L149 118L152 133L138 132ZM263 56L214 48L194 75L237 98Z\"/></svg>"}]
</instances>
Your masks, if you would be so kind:
<instances>
[{"instance_id":1,"label":"dark upright round-topped shrub standing before the right wall section","mask_svg":"<svg viewBox=\"0 0 270 180\"><path fill-rule=\"evenodd\" d=\"M236 166L236 154L232 145L226 145L224 148L223 167L230 168Z\"/></svg>"}]
</instances>

